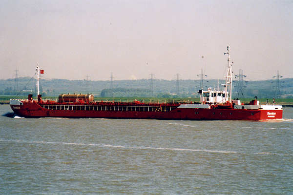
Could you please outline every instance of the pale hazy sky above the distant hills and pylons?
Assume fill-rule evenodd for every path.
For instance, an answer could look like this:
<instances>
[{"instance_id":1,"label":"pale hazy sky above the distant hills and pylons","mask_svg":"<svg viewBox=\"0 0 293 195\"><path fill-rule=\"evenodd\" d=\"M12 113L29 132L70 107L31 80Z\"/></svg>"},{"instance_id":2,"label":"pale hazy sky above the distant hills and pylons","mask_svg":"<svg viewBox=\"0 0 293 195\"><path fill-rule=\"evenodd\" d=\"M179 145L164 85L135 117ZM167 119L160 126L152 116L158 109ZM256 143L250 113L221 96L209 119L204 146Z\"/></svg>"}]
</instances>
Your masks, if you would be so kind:
<instances>
[{"instance_id":1,"label":"pale hazy sky above the distant hills and pylons","mask_svg":"<svg viewBox=\"0 0 293 195\"><path fill-rule=\"evenodd\" d=\"M1 0L0 79L293 78L293 0ZM204 58L202 58L204 57Z\"/></svg>"}]
</instances>

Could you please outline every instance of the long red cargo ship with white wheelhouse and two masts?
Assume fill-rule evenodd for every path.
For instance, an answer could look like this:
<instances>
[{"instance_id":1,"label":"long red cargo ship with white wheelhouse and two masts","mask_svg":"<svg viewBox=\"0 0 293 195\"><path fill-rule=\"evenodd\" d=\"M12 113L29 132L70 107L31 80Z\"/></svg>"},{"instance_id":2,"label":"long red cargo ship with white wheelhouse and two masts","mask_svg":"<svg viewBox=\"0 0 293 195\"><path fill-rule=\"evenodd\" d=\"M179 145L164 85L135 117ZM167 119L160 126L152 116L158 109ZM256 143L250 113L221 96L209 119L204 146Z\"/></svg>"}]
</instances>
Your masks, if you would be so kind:
<instances>
[{"instance_id":1,"label":"long red cargo ship with white wheelhouse and two masts","mask_svg":"<svg viewBox=\"0 0 293 195\"><path fill-rule=\"evenodd\" d=\"M254 99L249 105L232 100L232 71L230 48L227 47L228 71L224 90L199 90L200 104L145 103L140 101L94 101L93 95L62 94L58 100L42 100L39 95L39 74L37 66L38 99L10 99L11 109L20 117L97 117L97 118L149 118L172 120L269 120L282 118L281 105L259 105ZM42 72L41 72L42 73Z\"/></svg>"}]
</instances>

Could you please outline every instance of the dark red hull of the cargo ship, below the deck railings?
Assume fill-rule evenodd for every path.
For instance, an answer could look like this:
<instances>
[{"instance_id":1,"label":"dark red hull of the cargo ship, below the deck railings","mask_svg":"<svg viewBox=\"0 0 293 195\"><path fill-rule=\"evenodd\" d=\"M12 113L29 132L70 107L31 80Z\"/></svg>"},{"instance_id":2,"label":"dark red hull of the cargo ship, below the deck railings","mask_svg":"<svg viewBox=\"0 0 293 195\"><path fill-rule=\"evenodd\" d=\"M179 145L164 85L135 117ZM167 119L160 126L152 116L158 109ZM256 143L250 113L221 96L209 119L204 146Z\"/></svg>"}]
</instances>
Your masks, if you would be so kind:
<instances>
[{"instance_id":1,"label":"dark red hull of the cargo ship, below the deck railings","mask_svg":"<svg viewBox=\"0 0 293 195\"><path fill-rule=\"evenodd\" d=\"M109 103L108 105L113 104ZM43 108L37 102L23 102L23 105L11 105L11 109L20 117L149 118L172 120L268 120L280 119L283 113L283 110L240 110L233 108L174 108L171 111L164 111L162 109L159 111L52 110Z\"/></svg>"}]
</instances>

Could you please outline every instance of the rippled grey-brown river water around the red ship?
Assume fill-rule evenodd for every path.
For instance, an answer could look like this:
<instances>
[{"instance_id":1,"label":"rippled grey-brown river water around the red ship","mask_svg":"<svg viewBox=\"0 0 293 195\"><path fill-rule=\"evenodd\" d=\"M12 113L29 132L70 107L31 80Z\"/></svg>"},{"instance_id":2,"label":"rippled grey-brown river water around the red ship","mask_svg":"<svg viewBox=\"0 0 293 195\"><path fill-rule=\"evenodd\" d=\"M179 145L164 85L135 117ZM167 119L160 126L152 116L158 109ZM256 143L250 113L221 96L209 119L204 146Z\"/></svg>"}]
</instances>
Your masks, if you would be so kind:
<instances>
[{"instance_id":1,"label":"rippled grey-brown river water around the red ship","mask_svg":"<svg viewBox=\"0 0 293 195\"><path fill-rule=\"evenodd\" d=\"M282 120L9 117L0 194L293 194L293 108Z\"/></svg>"}]
</instances>

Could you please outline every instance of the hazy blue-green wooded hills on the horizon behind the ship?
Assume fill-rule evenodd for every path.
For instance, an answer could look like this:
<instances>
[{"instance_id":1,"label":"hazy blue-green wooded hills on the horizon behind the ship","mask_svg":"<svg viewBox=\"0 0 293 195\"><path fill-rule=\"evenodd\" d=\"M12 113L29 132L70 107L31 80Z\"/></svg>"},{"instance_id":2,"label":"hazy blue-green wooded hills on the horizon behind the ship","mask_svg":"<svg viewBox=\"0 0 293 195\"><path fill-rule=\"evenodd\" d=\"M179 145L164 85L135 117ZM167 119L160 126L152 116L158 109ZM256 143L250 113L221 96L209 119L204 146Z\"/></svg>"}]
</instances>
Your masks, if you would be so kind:
<instances>
[{"instance_id":1,"label":"hazy blue-green wooded hills on the horizon behind the ship","mask_svg":"<svg viewBox=\"0 0 293 195\"><path fill-rule=\"evenodd\" d=\"M204 89L216 88L215 79L205 80ZM219 87L224 80L219 80ZM111 82L86 81L67 79L41 79L40 91L43 96L56 97L63 93L92 93L96 97L197 97L200 80L179 80L179 94L176 94L176 80L153 79L153 91L150 89L150 79L115 80L111 92ZM276 97L276 80L245 81L242 91L238 89L238 82L233 81L233 98L272 98ZM18 90L17 90L18 88ZM107 89L107 90L105 90ZM119 89L119 90L118 90ZM128 90L127 90L128 89ZM35 78L19 78L18 86L15 79L0 79L0 95L27 95L35 94ZM115 92L115 93L114 93ZM293 98L293 78L280 79L280 92L283 98Z\"/></svg>"}]
</instances>

